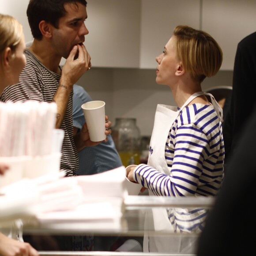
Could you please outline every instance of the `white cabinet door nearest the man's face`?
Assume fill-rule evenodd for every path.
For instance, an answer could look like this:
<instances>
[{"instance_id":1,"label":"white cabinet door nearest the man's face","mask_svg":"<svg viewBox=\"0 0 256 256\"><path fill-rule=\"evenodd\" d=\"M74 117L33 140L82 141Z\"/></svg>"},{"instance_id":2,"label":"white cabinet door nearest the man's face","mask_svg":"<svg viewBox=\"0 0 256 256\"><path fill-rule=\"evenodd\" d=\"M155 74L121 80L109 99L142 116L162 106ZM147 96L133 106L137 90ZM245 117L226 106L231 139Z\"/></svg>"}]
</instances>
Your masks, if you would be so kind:
<instances>
[{"instance_id":1,"label":"white cabinet door nearest the man's face","mask_svg":"<svg viewBox=\"0 0 256 256\"><path fill-rule=\"evenodd\" d=\"M94 67L139 67L140 0L87 0L85 46Z\"/></svg>"}]
</instances>

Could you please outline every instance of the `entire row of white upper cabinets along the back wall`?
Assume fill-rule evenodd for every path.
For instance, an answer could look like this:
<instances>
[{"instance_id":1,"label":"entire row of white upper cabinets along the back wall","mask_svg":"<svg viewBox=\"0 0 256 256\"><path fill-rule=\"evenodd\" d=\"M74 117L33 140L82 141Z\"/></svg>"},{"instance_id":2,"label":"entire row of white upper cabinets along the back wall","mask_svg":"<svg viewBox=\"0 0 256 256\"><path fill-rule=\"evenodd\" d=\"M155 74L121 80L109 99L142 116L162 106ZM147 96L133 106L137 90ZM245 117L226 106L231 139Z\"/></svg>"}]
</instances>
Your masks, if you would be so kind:
<instances>
[{"instance_id":1,"label":"entire row of white upper cabinets along the back wall","mask_svg":"<svg viewBox=\"0 0 256 256\"><path fill-rule=\"evenodd\" d=\"M233 70L237 43L256 31L255 0L87 0L85 45L92 66L155 68L155 57L177 25L211 34L223 51L222 70ZM0 0L0 12L14 16L32 40L29 0ZM64 62L63 62L64 63Z\"/></svg>"}]
</instances>

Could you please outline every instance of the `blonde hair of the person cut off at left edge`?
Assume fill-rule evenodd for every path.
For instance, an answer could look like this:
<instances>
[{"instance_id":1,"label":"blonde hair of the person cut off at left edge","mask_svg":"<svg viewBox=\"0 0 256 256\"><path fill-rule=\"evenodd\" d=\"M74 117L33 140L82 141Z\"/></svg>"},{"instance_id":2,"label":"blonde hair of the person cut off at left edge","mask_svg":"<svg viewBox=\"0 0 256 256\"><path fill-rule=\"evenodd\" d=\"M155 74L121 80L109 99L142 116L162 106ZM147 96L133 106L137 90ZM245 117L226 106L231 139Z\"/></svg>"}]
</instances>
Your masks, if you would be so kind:
<instances>
[{"instance_id":1,"label":"blonde hair of the person cut off at left edge","mask_svg":"<svg viewBox=\"0 0 256 256\"><path fill-rule=\"evenodd\" d=\"M11 48L12 56L15 56L15 49L22 40L23 27L12 16L0 14L0 57L3 61L3 53L7 47Z\"/></svg>"}]
</instances>

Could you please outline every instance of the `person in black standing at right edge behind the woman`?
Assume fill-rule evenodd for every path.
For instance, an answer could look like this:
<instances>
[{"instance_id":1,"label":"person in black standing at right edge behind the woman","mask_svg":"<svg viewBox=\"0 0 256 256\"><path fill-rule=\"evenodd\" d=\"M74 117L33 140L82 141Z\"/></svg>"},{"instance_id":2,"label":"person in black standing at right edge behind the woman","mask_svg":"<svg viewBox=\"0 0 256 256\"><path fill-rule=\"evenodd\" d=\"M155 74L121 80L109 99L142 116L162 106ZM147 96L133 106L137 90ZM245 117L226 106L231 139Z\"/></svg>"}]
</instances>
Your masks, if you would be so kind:
<instances>
[{"instance_id":1,"label":"person in black standing at right edge behind the woman","mask_svg":"<svg viewBox=\"0 0 256 256\"><path fill-rule=\"evenodd\" d=\"M225 169L229 164L232 154L238 149L237 145L243 135L246 123L252 117L252 111L256 103L255 45L256 32L243 38L237 45L230 109L223 125ZM231 169L230 171L232 172Z\"/></svg>"}]
</instances>

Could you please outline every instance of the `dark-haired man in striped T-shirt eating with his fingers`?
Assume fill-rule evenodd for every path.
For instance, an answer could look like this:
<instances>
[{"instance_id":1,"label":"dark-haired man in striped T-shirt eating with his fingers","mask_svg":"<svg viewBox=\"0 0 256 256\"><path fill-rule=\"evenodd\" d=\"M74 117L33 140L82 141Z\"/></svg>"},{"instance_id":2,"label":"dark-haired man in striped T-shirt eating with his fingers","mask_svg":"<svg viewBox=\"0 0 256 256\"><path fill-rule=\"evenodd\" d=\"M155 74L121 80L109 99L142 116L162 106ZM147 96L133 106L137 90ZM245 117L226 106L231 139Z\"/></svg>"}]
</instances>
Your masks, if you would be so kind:
<instances>
[{"instance_id":1,"label":"dark-haired man in striped T-shirt eating with his fingers","mask_svg":"<svg viewBox=\"0 0 256 256\"><path fill-rule=\"evenodd\" d=\"M65 132L60 169L72 176L78 169L77 151L99 143L90 141L86 124L73 138L73 84L91 66L90 54L83 45L85 35L89 33L84 24L87 2L30 0L27 17L34 37L25 52L27 64L19 84L4 90L1 100L56 102L56 128ZM60 68L62 57L67 60ZM111 122L106 122L105 127L110 125ZM111 131L105 133L108 135Z\"/></svg>"}]
</instances>

